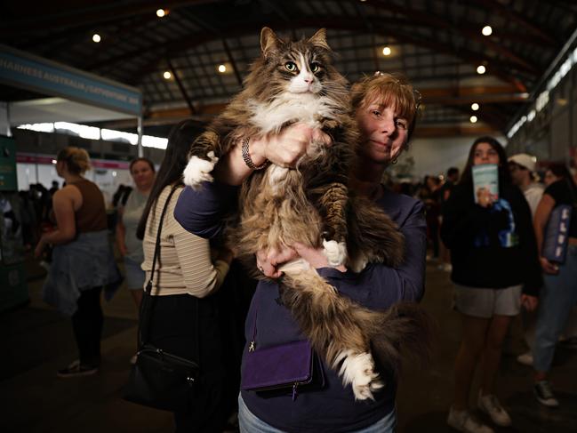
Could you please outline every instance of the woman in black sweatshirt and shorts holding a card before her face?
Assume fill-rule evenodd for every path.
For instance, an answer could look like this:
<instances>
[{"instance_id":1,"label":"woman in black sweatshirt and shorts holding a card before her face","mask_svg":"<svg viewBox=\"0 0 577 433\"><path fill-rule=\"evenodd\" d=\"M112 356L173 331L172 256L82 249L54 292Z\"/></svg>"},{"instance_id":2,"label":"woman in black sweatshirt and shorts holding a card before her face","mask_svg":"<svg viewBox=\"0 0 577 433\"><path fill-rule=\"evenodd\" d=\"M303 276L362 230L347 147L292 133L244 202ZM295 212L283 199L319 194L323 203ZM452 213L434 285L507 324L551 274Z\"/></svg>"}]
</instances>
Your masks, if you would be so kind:
<instances>
[{"instance_id":1,"label":"woman in black sweatshirt and shorts holding a card before her face","mask_svg":"<svg viewBox=\"0 0 577 433\"><path fill-rule=\"evenodd\" d=\"M499 197L476 203L472 167L496 164ZM511 184L507 156L493 137L473 143L461 182L445 205L441 237L451 249L455 309L461 313L461 346L455 361L455 397L447 423L466 432L490 433L469 410L471 383L480 361L478 408L500 426L509 413L495 396L502 343L521 305L533 310L542 284L531 211L519 188Z\"/></svg>"}]
</instances>

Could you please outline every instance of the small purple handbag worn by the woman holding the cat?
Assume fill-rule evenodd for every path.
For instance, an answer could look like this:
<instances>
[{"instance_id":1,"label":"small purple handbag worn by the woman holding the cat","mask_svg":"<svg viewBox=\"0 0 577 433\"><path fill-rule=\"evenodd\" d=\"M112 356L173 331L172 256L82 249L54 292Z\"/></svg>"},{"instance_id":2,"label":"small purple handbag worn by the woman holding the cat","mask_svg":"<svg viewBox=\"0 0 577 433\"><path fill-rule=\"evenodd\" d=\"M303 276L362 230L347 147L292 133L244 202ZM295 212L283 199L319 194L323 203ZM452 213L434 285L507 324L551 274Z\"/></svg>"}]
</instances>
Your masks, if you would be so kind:
<instances>
[{"instance_id":1,"label":"small purple handbag worn by the woman holding the cat","mask_svg":"<svg viewBox=\"0 0 577 433\"><path fill-rule=\"evenodd\" d=\"M248 353L244 356L240 389L265 392L268 396L291 394L298 390L320 389L325 375L320 360L307 340L255 349L254 331Z\"/></svg>"}]
</instances>

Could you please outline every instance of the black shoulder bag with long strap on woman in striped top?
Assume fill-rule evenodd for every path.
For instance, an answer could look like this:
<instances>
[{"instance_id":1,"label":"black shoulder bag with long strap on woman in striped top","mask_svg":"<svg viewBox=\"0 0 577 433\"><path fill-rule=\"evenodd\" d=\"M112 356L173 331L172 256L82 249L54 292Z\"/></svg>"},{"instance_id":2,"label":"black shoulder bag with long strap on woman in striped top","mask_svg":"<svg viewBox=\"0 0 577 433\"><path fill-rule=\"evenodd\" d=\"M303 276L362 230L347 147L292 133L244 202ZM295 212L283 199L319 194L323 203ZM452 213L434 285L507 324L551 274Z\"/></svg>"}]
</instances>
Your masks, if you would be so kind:
<instances>
[{"instance_id":1,"label":"black shoulder bag with long strap on woman in striped top","mask_svg":"<svg viewBox=\"0 0 577 433\"><path fill-rule=\"evenodd\" d=\"M156 409L180 412L187 409L194 395L200 368L196 362L167 353L148 342L151 304L154 301L150 293L160 250L160 233L163 227L164 213L166 213L166 208L174 191L175 188L172 188L158 223L152 270L144 290L140 309L138 356L136 364L132 365L128 384L124 389L124 399ZM196 333L198 333L197 301L195 316ZM198 359L198 339L196 339L195 353L196 359Z\"/></svg>"}]
</instances>

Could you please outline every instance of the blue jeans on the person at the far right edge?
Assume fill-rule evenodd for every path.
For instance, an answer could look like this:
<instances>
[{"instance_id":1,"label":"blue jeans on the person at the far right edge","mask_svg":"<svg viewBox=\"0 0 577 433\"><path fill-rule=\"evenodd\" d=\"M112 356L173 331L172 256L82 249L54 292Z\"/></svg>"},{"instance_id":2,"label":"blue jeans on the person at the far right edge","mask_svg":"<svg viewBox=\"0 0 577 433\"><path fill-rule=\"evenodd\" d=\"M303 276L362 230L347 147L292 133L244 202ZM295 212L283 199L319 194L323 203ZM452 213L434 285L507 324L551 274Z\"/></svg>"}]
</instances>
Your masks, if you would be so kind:
<instances>
[{"instance_id":1,"label":"blue jeans on the person at the far right edge","mask_svg":"<svg viewBox=\"0 0 577 433\"><path fill-rule=\"evenodd\" d=\"M538 372L549 371L559 334L577 303L577 245L569 245L559 273L544 274L543 279L533 346L533 368Z\"/></svg>"}]
</instances>

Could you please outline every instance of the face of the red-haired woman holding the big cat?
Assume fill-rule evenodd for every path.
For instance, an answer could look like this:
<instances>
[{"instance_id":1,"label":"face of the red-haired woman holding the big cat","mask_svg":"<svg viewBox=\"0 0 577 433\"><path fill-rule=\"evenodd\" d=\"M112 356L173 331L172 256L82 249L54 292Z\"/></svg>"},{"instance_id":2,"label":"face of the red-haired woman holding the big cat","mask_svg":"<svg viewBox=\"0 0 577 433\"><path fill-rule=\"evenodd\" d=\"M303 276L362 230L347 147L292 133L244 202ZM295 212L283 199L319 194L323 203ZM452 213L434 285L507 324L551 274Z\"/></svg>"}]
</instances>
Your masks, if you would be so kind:
<instances>
[{"instance_id":1,"label":"face of the red-haired woman holding the big cat","mask_svg":"<svg viewBox=\"0 0 577 433\"><path fill-rule=\"evenodd\" d=\"M397 115L395 108L378 101L357 109L357 123L362 135L362 157L378 164L389 164L405 147L409 122Z\"/></svg>"}]
</instances>

